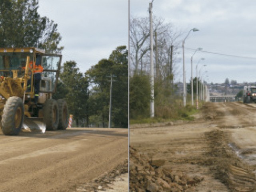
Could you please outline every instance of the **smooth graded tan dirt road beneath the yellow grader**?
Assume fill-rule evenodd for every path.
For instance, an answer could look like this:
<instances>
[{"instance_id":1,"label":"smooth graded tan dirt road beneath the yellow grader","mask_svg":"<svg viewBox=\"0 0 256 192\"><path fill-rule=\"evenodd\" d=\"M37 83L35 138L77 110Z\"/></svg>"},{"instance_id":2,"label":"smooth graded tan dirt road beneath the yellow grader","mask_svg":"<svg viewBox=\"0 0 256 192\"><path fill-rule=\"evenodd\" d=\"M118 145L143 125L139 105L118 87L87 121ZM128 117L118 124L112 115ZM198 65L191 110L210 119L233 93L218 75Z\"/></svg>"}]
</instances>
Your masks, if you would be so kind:
<instances>
[{"instance_id":1,"label":"smooth graded tan dirt road beneath the yellow grader","mask_svg":"<svg viewBox=\"0 0 256 192\"><path fill-rule=\"evenodd\" d=\"M93 180L102 188L107 179L99 178L125 172L127 158L127 129L71 128L19 136L1 132L0 191L72 192Z\"/></svg>"}]
</instances>

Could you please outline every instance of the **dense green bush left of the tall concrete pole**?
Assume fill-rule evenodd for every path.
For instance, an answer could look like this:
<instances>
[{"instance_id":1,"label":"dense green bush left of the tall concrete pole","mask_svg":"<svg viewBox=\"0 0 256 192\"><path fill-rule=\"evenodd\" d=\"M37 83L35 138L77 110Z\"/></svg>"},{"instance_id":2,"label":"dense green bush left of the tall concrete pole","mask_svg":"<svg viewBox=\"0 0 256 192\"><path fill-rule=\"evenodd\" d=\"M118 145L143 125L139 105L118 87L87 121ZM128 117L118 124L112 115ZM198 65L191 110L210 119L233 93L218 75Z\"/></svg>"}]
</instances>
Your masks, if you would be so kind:
<instances>
[{"instance_id":1,"label":"dense green bush left of the tall concrete pole","mask_svg":"<svg viewBox=\"0 0 256 192\"><path fill-rule=\"evenodd\" d=\"M130 118L139 119L150 116L150 78L146 74L130 77Z\"/></svg>"}]
</instances>

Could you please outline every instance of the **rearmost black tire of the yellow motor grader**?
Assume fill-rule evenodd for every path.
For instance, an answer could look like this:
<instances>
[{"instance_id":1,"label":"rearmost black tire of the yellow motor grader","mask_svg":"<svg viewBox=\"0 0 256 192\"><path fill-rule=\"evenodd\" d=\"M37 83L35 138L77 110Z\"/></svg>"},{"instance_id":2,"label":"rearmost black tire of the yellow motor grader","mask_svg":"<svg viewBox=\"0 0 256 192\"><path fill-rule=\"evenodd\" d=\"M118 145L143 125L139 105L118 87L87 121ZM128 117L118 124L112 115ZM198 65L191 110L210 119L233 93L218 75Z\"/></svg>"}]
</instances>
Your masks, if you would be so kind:
<instances>
[{"instance_id":1,"label":"rearmost black tire of the yellow motor grader","mask_svg":"<svg viewBox=\"0 0 256 192\"><path fill-rule=\"evenodd\" d=\"M58 129L66 130L68 127L68 105L64 99L58 99L58 108L59 108L59 125Z\"/></svg>"}]
</instances>

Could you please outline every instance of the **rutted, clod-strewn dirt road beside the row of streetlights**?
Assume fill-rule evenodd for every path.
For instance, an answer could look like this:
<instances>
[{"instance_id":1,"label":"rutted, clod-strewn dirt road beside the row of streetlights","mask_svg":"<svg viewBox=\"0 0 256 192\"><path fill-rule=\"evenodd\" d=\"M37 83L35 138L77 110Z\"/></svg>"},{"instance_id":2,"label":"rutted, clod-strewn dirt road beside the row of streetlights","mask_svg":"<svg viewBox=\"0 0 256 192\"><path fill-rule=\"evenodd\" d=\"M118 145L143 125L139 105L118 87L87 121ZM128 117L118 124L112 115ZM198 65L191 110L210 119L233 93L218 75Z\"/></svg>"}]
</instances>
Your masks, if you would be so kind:
<instances>
[{"instance_id":1,"label":"rutted, clod-strewn dirt road beside the row of streetlights","mask_svg":"<svg viewBox=\"0 0 256 192\"><path fill-rule=\"evenodd\" d=\"M130 126L130 149L131 191L254 192L256 104L207 103L192 122Z\"/></svg>"}]
</instances>

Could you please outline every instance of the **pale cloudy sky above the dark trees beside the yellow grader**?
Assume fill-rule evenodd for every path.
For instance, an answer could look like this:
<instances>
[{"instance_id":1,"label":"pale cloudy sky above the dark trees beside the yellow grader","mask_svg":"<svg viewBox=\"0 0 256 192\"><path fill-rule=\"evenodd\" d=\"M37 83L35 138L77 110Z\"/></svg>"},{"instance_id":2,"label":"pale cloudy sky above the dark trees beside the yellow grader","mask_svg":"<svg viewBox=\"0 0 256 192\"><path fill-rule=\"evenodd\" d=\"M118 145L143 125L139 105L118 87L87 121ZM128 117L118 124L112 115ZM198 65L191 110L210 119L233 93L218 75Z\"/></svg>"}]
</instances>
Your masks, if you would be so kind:
<instances>
[{"instance_id":1,"label":"pale cloudy sky above the dark trees beside the yellow grader","mask_svg":"<svg viewBox=\"0 0 256 192\"><path fill-rule=\"evenodd\" d=\"M81 72L128 46L128 0L39 0L38 12L58 24L62 64L74 60Z\"/></svg>"}]
</instances>

